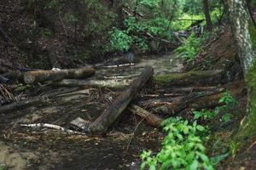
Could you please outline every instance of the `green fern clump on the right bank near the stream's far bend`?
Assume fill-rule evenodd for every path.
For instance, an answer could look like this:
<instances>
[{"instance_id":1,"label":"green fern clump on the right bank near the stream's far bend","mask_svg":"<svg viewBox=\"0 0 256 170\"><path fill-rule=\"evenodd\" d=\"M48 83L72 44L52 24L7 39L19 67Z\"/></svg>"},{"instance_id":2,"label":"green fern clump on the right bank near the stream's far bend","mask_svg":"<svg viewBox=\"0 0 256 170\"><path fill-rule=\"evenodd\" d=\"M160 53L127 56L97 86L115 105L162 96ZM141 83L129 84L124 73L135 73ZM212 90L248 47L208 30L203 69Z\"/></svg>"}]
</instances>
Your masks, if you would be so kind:
<instances>
[{"instance_id":1,"label":"green fern clump on the right bank near the stream's far bend","mask_svg":"<svg viewBox=\"0 0 256 170\"><path fill-rule=\"evenodd\" d=\"M201 49L202 40L200 37L196 37L195 33L191 33L190 36L183 42L183 45L176 49L177 54L181 56L185 61L193 61L195 55Z\"/></svg>"}]
</instances>

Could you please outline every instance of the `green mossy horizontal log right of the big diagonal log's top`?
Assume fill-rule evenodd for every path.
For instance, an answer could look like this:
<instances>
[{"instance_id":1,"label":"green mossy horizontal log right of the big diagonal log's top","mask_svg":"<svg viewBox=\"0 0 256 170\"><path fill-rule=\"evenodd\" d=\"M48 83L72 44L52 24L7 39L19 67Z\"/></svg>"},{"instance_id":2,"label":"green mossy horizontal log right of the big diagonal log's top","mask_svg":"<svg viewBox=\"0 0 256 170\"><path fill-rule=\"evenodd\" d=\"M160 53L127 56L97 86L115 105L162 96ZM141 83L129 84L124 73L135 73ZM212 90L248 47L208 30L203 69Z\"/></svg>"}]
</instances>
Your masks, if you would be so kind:
<instances>
[{"instance_id":1,"label":"green mossy horizontal log right of the big diagonal log's top","mask_svg":"<svg viewBox=\"0 0 256 170\"><path fill-rule=\"evenodd\" d=\"M163 76L155 76L153 82L160 86L208 84L218 82L224 71L189 71L184 73L171 73Z\"/></svg>"}]
</instances>

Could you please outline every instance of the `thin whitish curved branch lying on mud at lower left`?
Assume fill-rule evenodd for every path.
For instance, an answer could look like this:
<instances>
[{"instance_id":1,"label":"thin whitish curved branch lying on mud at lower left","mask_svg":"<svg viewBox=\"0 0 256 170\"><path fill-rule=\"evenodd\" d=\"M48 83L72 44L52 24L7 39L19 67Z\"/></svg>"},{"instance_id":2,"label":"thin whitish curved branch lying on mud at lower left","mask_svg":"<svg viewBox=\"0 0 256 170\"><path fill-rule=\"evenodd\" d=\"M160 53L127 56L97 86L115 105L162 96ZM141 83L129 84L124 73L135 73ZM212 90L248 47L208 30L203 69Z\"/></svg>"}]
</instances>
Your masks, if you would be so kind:
<instances>
[{"instance_id":1,"label":"thin whitish curved branch lying on mud at lower left","mask_svg":"<svg viewBox=\"0 0 256 170\"><path fill-rule=\"evenodd\" d=\"M60 127L58 125L53 125L53 124L49 124L49 123L20 124L20 127L48 127L48 128L53 128L53 129L60 130L63 133L83 134L83 135L85 135L85 133L79 133L77 131L73 131L73 130L70 130L68 128Z\"/></svg>"}]
</instances>

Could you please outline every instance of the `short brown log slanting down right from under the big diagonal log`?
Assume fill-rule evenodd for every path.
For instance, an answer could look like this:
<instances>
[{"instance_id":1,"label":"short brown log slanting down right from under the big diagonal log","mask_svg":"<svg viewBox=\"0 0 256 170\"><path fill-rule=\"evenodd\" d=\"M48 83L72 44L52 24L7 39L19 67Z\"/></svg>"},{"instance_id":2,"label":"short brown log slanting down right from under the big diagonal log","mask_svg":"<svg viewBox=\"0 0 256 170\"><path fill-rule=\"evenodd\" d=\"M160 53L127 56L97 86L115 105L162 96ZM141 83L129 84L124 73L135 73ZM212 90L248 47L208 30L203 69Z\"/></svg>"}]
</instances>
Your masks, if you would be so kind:
<instances>
[{"instance_id":1,"label":"short brown log slanting down right from under the big diagonal log","mask_svg":"<svg viewBox=\"0 0 256 170\"><path fill-rule=\"evenodd\" d=\"M138 105L130 105L128 110L133 114L143 117L153 127L159 127L160 123L164 121L164 119L159 116L155 116Z\"/></svg>"}]
</instances>

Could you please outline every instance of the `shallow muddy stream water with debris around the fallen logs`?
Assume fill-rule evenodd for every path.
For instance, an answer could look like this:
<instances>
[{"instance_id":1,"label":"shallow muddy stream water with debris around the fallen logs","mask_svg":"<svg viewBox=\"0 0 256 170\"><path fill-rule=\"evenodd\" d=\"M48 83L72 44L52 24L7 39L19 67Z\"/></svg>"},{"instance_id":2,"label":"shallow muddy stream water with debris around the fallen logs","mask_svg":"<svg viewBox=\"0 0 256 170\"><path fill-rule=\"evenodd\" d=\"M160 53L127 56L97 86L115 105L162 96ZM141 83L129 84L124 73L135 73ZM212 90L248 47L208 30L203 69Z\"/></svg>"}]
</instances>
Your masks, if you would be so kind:
<instances>
[{"instance_id":1,"label":"shallow muddy stream water with debris around the fallen logs","mask_svg":"<svg viewBox=\"0 0 256 170\"><path fill-rule=\"evenodd\" d=\"M145 65L152 65L154 74L180 71L182 66L172 54L143 57L137 65L100 69L93 78L129 78ZM89 94L46 99L42 104L1 114L0 169L138 169L139 154L142 150L157 151L163 134L145 122L137 127L141 118L128 111L103 137L20 127L20 123L44 122L73 128L69 122L78 116L95 120L115 96L108 89L90 88Z\"/></svg>"}]
</instances>

